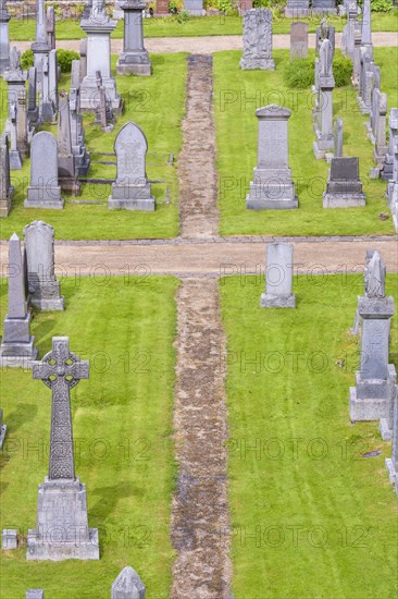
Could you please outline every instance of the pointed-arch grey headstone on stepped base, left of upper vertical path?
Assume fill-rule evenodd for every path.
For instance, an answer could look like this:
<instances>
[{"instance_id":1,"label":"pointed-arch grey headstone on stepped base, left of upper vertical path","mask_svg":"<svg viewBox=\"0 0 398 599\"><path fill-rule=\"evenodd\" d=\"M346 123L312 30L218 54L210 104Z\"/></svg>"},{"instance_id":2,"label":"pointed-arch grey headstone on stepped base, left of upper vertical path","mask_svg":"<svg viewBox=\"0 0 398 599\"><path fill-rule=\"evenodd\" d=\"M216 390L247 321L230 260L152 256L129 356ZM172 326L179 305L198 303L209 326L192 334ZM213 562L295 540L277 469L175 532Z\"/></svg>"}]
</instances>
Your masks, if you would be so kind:
<instances>
[{"instance_id":1,"label":"pointed-arch grey headstone on stepped base, left of upper vertical path","mask_svg":"<svg viewBox=\"0 0 398 599\"><path fill-rule=\"evenodd\" d=\"M117 133L114 151L117 159L116 181L112 184L109 208L154 210L154 197L146 172L147 138L135 123L126 123Z\"/></svg>"}]
</instances>

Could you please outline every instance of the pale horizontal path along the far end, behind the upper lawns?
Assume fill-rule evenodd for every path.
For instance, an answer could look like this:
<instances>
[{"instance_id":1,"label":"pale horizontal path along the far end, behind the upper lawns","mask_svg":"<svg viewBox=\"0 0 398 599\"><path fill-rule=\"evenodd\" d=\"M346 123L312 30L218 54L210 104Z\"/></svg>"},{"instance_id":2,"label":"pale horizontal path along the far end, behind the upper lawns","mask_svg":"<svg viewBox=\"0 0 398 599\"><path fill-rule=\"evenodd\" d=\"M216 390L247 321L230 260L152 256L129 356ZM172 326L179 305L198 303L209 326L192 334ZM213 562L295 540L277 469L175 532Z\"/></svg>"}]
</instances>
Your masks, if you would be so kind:
<instances>
[{"instance_id":1,"label":"pale horizontal path along the far end, behind the upper lawns","mask_svg":"<svg viewBox=\"0 0 398 599\"><path fill-rule=\"evenodd\" d=\"M273 47L276 50L288 50L290 48L289 34L275 34L272 36ZM373 32L372 42L374 46L398 46L397 32ZM58 48L65 50L75 50L78 52L78 40L76 39L60 39L57 41ZM336 46L340 47L341 34L336 34ZM20 50L28 50L32 46L30 41L11 42ZM315 47L315 34L309 35L310 48ZM119 53L122 50L123 40L112 39L112 52ZM192 52L199 54L211 54L220 50L241 50L242 38L240 35L220 35L220 36L202 36L202 37L151 37L146 38L145 47L149 52Z\"/></svg>"}]
</instances>

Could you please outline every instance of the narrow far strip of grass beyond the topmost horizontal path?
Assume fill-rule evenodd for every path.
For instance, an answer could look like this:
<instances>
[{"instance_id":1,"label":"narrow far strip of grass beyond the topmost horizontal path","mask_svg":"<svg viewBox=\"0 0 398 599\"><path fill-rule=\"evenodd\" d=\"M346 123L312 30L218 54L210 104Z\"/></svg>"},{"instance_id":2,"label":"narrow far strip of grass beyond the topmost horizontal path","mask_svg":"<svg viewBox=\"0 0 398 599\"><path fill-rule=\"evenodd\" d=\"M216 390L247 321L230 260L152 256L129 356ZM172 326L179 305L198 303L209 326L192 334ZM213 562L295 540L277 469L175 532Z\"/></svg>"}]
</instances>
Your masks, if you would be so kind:
<instances>
[{"instance_id":1,"label":"narrow far strip of grass beyond the topmost horizontal path","mask_svg":"<svg viewBox=\"0 0 398 599\"><path fill-rule=\"evenodd\" d=\"M293 19L284 16L273 17L273 33L288 34ZM297 20L296 20L297 21ZM309 23L309 30L314 33L321 19L300 19ZM337 32L343 32L346 19L340 16L329 17L329 22ZM57 21L57 39L79 39L85 37L77 20ZM391 10L388 13L372 13L372 29L374 32L396 32L398 28L398 11ZM196 16L185 23L178 23L175 17L145 19L145 37L197 37L208 35L240 35L242 29L240 16ZM32 40L35 37L35 23L33 20L10 22L10 37L18 41ZM113 38L123 38L123 23L120 22Z\"/></svg>"}]
</instances>

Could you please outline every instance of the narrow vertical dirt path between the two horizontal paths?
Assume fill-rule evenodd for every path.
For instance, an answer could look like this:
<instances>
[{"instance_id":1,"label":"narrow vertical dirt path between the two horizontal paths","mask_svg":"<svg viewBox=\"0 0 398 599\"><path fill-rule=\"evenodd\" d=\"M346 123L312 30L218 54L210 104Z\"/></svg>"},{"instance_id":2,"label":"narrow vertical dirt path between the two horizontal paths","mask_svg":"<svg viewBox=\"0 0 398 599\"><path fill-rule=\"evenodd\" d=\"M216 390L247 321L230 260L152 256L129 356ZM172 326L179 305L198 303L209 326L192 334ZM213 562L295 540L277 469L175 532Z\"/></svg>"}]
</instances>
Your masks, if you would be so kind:
<instances>
[{"instance_id":1,"label":"narrow vertical dirt path between the two horizontal paths","mask_svg":"<svg viewBox=\"0 0 398 599\"><path fill-rule=\"evenodd\" d=\"M189 54L183 150L178 157L183 237L209 237L219 230L213 57Z\"/></svg>"}]
</instances>

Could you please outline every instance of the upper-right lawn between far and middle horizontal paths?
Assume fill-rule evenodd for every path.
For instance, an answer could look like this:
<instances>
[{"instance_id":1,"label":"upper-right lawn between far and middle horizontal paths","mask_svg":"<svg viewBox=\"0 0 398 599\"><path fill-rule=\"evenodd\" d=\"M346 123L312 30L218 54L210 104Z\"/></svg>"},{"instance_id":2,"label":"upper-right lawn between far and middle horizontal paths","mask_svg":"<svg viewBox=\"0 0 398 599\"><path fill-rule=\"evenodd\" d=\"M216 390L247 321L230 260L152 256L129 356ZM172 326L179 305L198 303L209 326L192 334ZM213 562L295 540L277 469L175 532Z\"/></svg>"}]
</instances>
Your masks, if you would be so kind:
<instances>
[{"instance_id":1,"label":"upper-right lawn between far and middle horizontal paths","mask_svg":"<svg viewBox=\"0 0 398 599\"><path fill-rule=\"evenodd\" d=\"M313 52L312 52L313 54ZM314 54L313 54L314 56ZM214 54L214 110L217 138L219 207L221 233L270 235L345 235L393 234L393 220L381 221L388 212L386 183L369 178L373 146L366 138L366 115L359 112L356 90L336 88L333 96L334 119L341 117L345 129L345 156L360 158L360 174L366 194L365 208L328 209L322 207L328 164L315 160L312 144L311 89L288 89L283 80L288 50L275 50L275 71L241 71L241 52ZM375 61L382 68L382 90L388 108L397 106L397 74L390 64L397 48L376 48ZM289 120L289 161L299 198L298 210L246 209L246 195L257 162L257 108L278 103L291 109Z\"/></svg>"}]
</instances>

